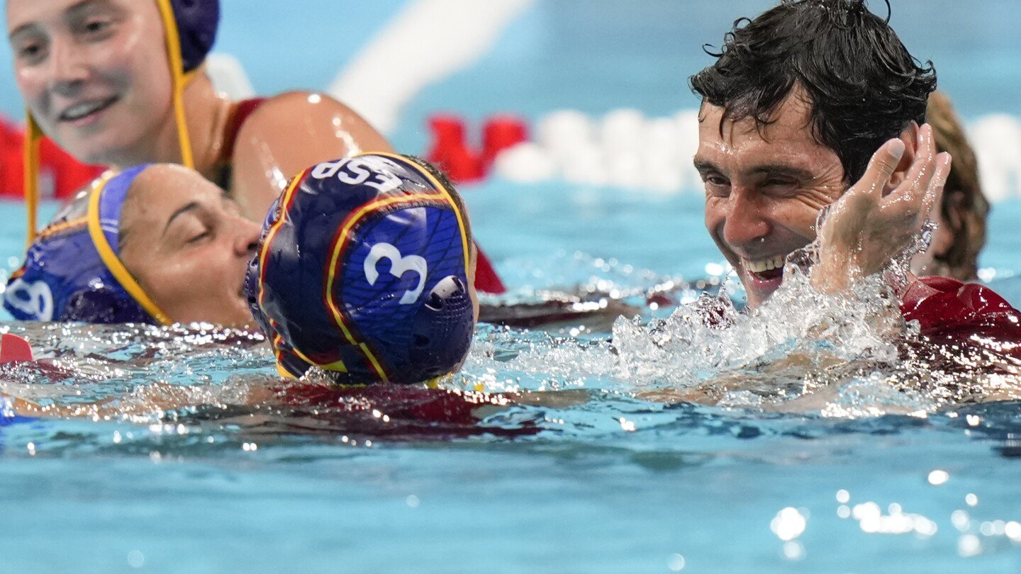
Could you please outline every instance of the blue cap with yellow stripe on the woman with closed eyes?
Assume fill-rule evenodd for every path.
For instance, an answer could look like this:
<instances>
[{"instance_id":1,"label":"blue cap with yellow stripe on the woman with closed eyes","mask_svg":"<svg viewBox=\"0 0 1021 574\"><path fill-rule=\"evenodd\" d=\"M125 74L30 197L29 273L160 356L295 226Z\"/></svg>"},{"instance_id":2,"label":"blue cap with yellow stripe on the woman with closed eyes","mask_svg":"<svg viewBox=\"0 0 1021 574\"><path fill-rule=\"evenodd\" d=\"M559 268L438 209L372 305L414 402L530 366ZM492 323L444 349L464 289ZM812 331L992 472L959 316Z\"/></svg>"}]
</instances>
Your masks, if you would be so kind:
<instances>
[{"instance_id":1,"label":"blue cap with yellow stripe on the woman with closed eyes","mask_svg":"<svg viewBox=\"0 0 1021 574\"><path fill-rule=\"evenodd\" d=\"M169 323L119 257L121 208L146 166L104 176L36 237L4 291L14 319Z\"/></svg>"}]
</instances>

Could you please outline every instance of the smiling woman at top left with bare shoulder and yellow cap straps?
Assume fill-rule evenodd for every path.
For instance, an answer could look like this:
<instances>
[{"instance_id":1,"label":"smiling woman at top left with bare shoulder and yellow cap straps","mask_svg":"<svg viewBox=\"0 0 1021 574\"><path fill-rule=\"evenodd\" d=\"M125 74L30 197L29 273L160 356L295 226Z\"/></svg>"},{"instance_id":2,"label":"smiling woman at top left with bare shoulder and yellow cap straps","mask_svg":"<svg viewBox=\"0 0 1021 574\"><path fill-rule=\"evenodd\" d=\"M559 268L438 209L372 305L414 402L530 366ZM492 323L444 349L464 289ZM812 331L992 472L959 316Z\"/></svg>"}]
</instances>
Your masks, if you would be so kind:
<instances>
[{"instance_id":1,"label":"smiling woman at top left with bare shoulder and yellow cap straps","mask_svg":"<svg viewBox=\"0 0 1021 574\"><path fill-rule=\"evenodd\" d=\"M390 151L360 116L323 94L232 102L202 63L218 0L8 0L8 38L32 142L50 136L78 159L125 170L183 163L261 221L301 169ZM34 146L27 146L34 202ZM34 203L33 203L34 204ZM30 235L36 224L30 221ZM503 285L480 257L480 289Z\"/></svg>"}]
</instances>

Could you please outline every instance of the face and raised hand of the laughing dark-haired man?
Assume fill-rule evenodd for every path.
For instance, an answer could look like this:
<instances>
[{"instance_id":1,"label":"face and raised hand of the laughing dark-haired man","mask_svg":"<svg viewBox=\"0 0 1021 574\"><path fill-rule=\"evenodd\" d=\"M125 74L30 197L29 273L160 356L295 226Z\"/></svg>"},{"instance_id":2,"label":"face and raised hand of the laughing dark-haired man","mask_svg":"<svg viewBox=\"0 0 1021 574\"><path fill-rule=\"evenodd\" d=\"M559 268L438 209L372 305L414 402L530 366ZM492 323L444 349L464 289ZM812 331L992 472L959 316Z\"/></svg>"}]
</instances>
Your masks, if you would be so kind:
<instances>
[{"instance_id":1,"label":"face and raised hand of the laughing dark-haired man","mask_svg":"<svg viewBox=\"0 0 1021 574\"><path fill-rule=\"evenodd\" d=\"M912 123L848 188L836 152L812 136L810 105L795 88L765 126L753 118L721 126L723 109L709 103L699 113L694 163L706 185L706 227L749 306L780 287L783 258L816 239L827 205L813 285L840 291L882 270L920 233L950 172L931 128Z\"/></svg>"}]
</instances>

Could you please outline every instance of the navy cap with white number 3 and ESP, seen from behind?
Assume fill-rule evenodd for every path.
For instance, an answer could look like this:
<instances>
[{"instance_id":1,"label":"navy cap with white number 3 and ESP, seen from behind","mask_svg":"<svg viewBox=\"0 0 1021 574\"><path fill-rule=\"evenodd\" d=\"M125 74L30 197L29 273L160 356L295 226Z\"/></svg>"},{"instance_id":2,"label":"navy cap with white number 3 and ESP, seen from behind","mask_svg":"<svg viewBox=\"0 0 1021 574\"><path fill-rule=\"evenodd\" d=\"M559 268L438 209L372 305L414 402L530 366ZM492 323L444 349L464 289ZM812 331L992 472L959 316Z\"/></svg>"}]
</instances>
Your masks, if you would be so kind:
<instances>
[{"instance_id":1,"label":"navy cap with white number 3 and ESP, seen from behind","mask_svg":"<svg viewBox=\"0 0 1021 574\"><path fill-rule=\"evenodd\" d=\"M248 304L282 375L418 383L456 371L475 330L472 235L421 159L373 153L294 178L262 226Z\"/></svg>"}]
</instances>

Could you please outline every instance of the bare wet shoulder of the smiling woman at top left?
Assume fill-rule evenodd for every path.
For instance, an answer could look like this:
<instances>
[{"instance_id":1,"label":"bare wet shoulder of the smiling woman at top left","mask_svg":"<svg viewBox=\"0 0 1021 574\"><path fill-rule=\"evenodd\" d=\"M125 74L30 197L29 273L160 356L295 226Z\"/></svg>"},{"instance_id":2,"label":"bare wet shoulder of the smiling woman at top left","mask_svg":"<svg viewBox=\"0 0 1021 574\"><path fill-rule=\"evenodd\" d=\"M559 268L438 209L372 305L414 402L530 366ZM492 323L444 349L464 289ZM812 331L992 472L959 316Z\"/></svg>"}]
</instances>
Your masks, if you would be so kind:
<instances>
[{"instance_id":1,"label":"bare wet shoulder of the smiling woman at top left","mask_svg":"<svg viewBox=\"0 0 1021 574\"><path fill-rule=\"evenodd\" d=\"M366 151L393 151L375 128L325 94L274 97L245 121L234 148L231 193L261 222L287 181L305 168Z\"/></svg>"}]
</instances>

